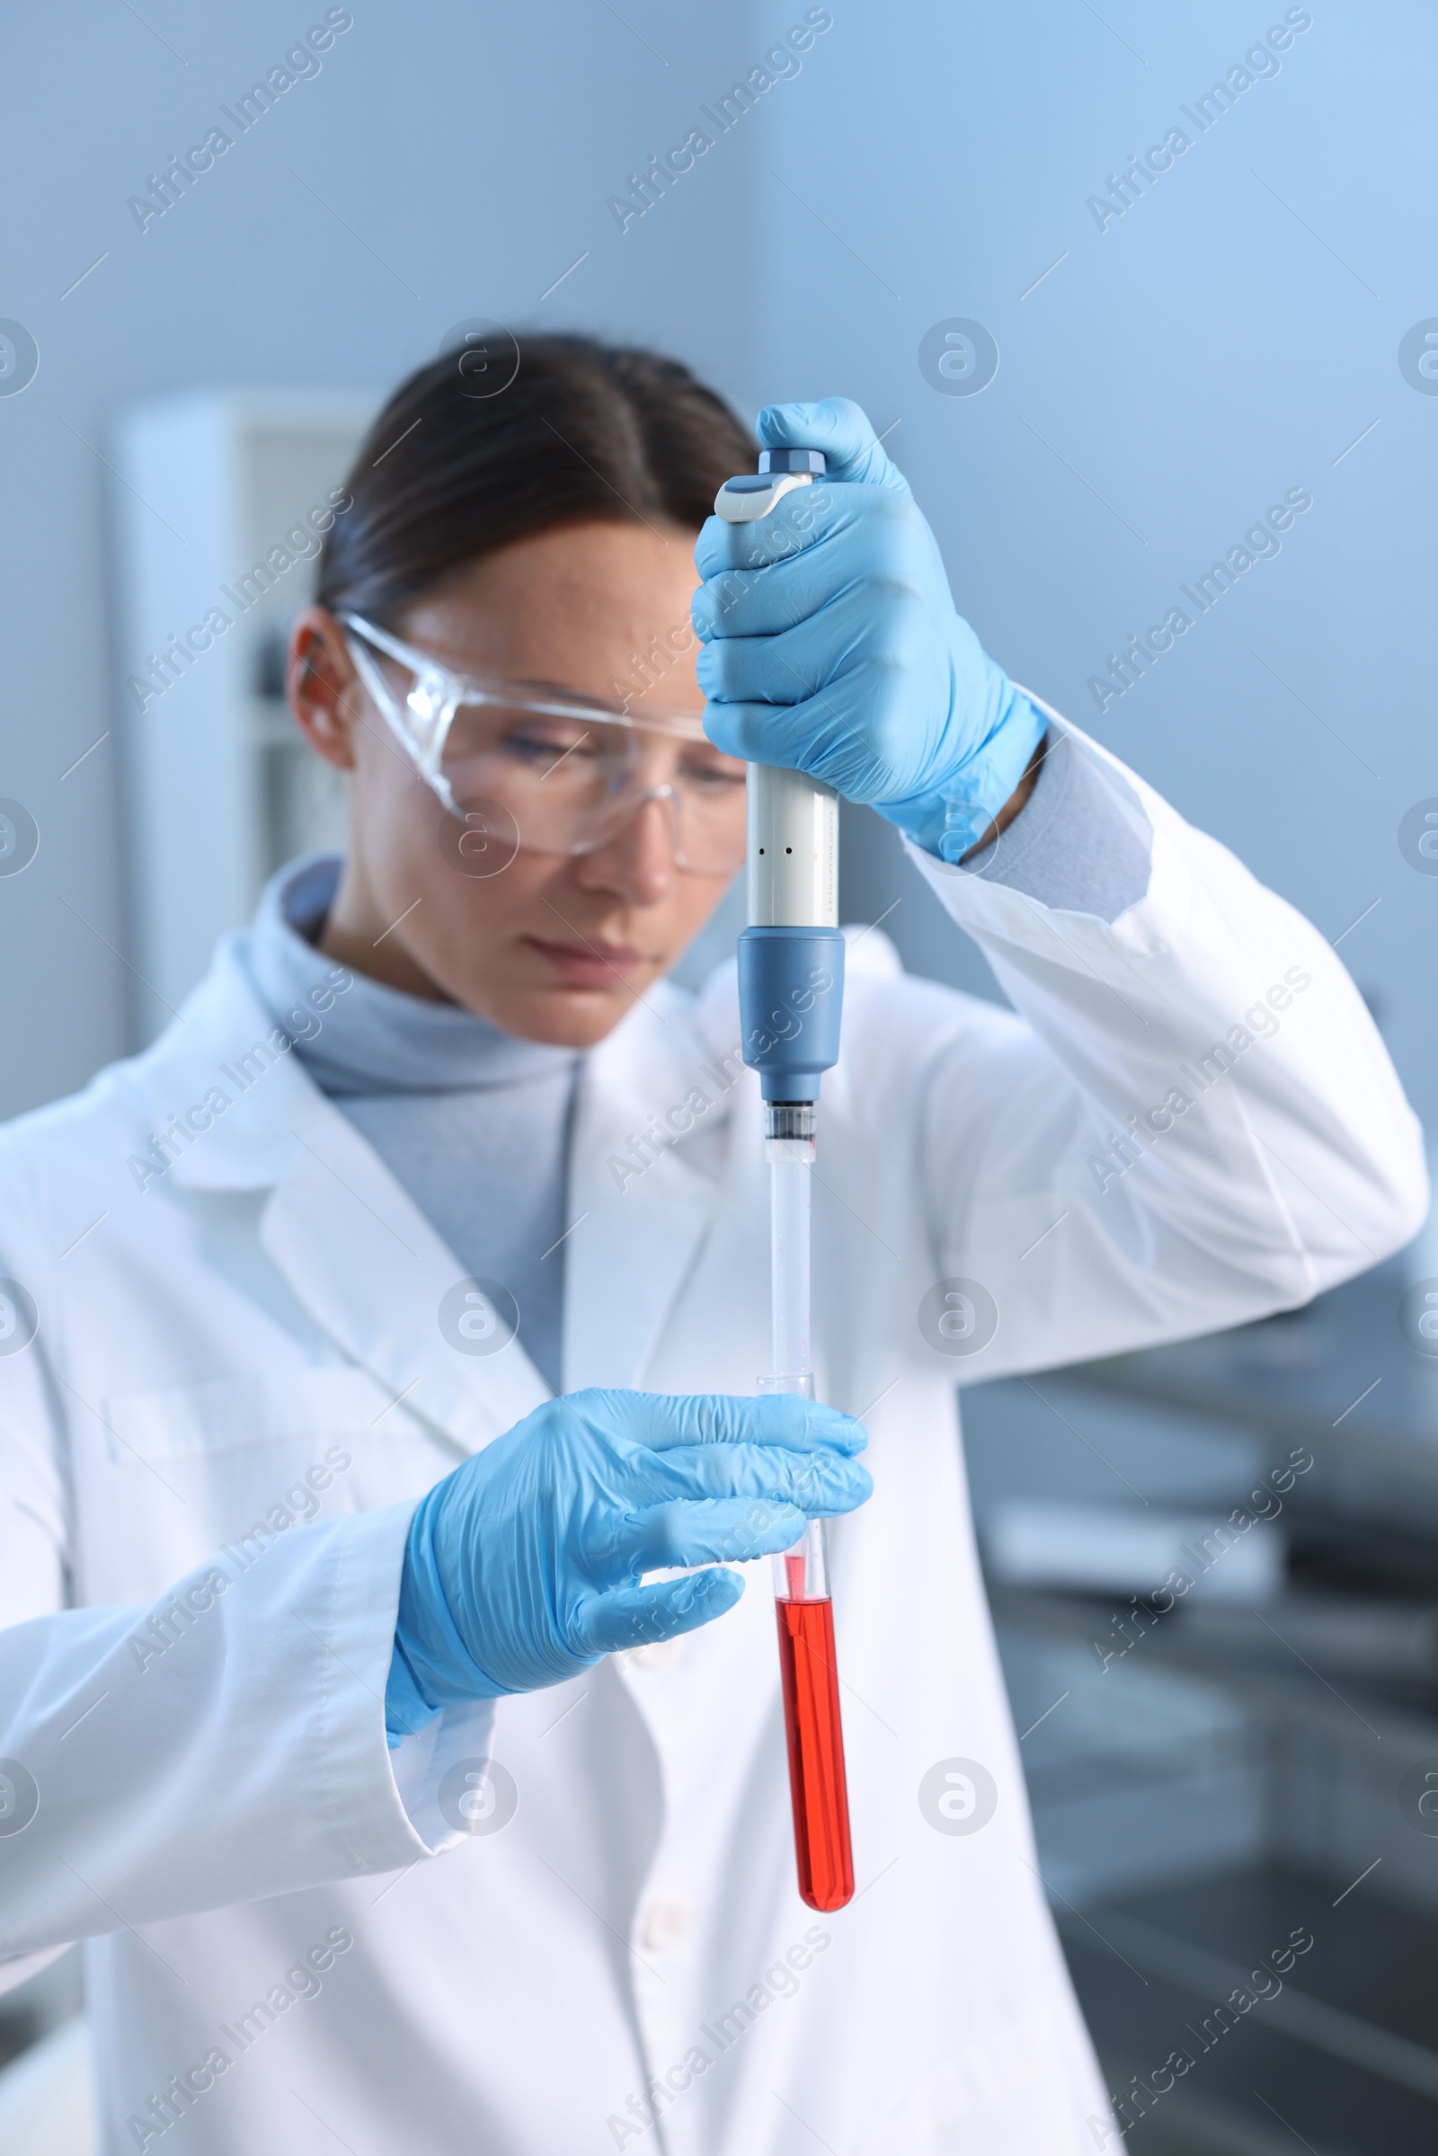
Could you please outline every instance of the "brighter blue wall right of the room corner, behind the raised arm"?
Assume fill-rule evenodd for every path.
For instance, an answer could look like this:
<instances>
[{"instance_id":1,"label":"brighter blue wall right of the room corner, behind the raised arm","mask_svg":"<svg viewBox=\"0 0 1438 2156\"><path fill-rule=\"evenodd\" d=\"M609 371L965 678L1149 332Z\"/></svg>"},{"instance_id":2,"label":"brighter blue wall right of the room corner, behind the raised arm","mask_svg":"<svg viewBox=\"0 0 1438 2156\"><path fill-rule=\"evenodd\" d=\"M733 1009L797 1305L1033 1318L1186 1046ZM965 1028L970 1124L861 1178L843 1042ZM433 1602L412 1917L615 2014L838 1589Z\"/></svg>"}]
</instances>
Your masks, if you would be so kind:
<instances>
[{"instance_id":1,"label":"brighter blue wall right of the room corner, behind the raised arm","mask_svg":"<svg viewBox=\"0 0 1438 2156\"><path fill-rule=\"evenodd\" d=\"M1397 367L1410 323L1438 317L1438 17L1313 0L1281 73L1100 233L1087 196L1283 4L834 13L824 97L783 106L759 175L770 392L843 388L880 429L901 420L888 446L990 649L1328 936L1382 899L1341 951L1438 1110L1438 877L1397 847L1404 811L1438 796L1438 397ZM998 341L977 397L918 371L944 317ZM1084 683L1115 640L1294 485L1313 509L1283 554L1100 716ZM923 895L869 880L886 890L905 890L897 940L938 970Z\"/></svg>"}]
</instances>

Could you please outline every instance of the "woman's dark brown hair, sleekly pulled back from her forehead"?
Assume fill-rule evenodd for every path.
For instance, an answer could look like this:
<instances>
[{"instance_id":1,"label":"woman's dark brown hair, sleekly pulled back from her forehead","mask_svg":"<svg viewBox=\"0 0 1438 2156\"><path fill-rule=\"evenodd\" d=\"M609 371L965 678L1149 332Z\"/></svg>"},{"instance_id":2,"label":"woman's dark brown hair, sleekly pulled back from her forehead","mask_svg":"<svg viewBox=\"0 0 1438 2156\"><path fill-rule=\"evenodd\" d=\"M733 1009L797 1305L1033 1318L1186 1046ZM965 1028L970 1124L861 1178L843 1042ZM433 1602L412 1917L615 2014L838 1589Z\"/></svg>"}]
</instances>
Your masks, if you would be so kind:
<instances>
[{"instance_id":1,"label":"woman's dark brown hair, sleekly pulled back from her forehead","mask_svg":"<svg viewBox=\"0 0 1438 2156\"><path fill-rule=\"evenodd\" d=\"M517 373L485 379L457 347L420 367L371 427L328 533L315 597L392 627L457 569L496 548L589 517L699 530L755 444L679 360L591 336L520 336Z\"/></svg>"}]
</instances>

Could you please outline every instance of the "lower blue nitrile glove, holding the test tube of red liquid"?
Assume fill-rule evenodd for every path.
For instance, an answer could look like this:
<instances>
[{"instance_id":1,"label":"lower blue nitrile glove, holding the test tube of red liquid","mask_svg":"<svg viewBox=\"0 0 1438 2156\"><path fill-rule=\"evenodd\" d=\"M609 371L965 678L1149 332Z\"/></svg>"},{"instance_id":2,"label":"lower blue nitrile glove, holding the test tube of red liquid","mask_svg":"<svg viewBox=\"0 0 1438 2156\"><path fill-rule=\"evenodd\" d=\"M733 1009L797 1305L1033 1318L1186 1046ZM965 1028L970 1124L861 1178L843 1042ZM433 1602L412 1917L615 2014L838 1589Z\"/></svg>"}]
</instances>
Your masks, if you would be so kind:
<instances>
[{"instance_id":1,"label":"lower blue nitrile glove, holding the test tube of red liquid","mask_svg":"<svg viewBox=\"0 0 1438 2156\"><path fill-rule=\"evenodd\" d=\"M563 1684L619 1647L692 1632L737 1572L640 1587L668 1565L787 1550L873 1483L865 1425L789 1393L569 1393L435 1483L410 1522L390 1746L440 1708Z\"/></svg>"}]
</instances>

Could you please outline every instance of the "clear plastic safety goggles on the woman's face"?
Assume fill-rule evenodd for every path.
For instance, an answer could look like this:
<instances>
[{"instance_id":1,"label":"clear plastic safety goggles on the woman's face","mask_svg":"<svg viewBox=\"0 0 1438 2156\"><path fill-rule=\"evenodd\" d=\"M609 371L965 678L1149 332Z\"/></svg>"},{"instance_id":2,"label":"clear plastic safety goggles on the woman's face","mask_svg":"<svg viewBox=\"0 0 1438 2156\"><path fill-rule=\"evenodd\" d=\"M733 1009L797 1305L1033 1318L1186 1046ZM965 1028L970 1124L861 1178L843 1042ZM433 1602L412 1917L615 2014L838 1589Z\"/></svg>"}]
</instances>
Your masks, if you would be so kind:
<instances>
[{"instance_id":1,"label":"clear plastic safety goggles on the woman's face","mask_svg":"<svg viewBox=\"0 0 1438 2156\"><path fill-rule=\"evenodd\" d=\"M593 854L653 800L668 808L675 867L731 875L744 862L744 765L714 748L696 711L636 714L578 690L459 675L358 614L341 619L390 733L461 824L513 828L537 854Z\"/></svg>"}]
</instances>

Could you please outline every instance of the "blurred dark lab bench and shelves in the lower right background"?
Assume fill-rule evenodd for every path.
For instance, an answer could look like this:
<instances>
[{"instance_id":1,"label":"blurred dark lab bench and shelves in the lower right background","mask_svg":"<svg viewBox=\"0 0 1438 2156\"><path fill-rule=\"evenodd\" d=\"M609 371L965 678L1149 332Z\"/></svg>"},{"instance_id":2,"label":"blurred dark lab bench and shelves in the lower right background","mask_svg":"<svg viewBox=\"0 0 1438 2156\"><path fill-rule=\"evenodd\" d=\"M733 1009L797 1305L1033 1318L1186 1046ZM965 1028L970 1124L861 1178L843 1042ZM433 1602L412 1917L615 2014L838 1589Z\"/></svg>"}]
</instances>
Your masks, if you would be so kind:
<instances>
[{"instance_id":1,"label":"blurred dark lab bench and shelves in the lower right background","mask_svg":"<svg viewBox=\"0 0 1438 2156\"><path fill-rule=\"evenodd\" d=\"M1304 1311L964 1393L1039 1861L1140 2156L1438 2145L1421 1287L1395 1261Z\"/></svg>"}]
</instances>

